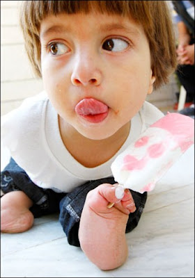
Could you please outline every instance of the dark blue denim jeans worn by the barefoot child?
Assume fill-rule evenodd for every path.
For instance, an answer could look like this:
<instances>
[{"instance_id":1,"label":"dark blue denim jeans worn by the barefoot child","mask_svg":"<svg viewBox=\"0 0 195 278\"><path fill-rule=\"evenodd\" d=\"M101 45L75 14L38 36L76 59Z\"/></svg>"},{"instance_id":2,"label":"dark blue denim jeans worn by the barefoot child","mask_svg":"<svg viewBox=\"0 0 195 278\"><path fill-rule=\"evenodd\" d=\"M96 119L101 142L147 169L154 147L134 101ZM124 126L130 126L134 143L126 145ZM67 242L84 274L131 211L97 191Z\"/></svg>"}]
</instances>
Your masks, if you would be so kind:
<instances>
[{"instance_id":1,"label":"dark blue denim jeans worn by the barefoot child","mask_svg":"<svg viewBox=\"0 0 195 278\"><path fill-rule=\"evenodd\" d=\"M80 246L78 238L79 222L86 195L90 190L102 183L114 184L116 182L113 177L87 181L70 193L56 193L52 189L36 186L26 172L15 163L13 158L10 159L10 163L1 172L1 190L3 193L22 190L33 201L33 206L30 210L35 218L58 212L59 221L67 236L68 243L78 247ZM126 233L137 227L147 199L147 193L141 194L133 190L130 191L137 210L129 215Z\"/></svg>"}]
</instances>

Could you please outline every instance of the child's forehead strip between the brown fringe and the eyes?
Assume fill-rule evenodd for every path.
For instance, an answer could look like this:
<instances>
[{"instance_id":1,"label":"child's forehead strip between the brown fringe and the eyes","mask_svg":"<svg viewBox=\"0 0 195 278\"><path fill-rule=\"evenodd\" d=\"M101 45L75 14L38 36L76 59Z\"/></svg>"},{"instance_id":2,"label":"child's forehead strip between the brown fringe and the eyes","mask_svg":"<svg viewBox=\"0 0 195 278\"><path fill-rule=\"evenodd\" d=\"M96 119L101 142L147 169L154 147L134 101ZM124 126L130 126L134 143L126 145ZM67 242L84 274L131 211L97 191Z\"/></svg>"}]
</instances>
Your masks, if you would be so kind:
<instances>
[{"instance_id":1,"label":"child's forehead strip between the brown fringe and the eyes","mask_svg":"<svg viewBox=\"0 0 195 278\"><path fill-rule=\"evenodd\" d=\"M130 17L95 12L72 15L61 13L56 16L48 15L42 20L40 24L40 37L45 38L52 33L71 33L75 30L78 32L85 31L90 28L101 33L121 31L137 37L144 33L143 27L134 22Z\"/></svg>"}]
</instances>

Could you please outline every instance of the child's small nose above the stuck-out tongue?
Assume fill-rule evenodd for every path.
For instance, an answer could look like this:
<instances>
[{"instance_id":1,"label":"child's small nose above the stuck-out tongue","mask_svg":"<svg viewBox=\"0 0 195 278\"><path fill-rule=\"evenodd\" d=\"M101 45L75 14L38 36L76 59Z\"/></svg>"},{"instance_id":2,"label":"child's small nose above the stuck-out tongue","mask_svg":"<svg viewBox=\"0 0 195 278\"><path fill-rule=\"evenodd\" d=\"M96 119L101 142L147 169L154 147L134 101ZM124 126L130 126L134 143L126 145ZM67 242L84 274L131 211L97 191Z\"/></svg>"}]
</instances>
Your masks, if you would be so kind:
<instances>
[{"instance_id":1,"label":"child's small nose above the stuck-out tongue","mask_svg":"<svg viewBox=\"0 0 195 278\"><path fill-rule=\"evenodd\" d=\"M100 85L102 72L95 63L95 58L90 54L79 54L75 56L71 74L71 82L75 86Z\"/></svg>"}]
</instances>

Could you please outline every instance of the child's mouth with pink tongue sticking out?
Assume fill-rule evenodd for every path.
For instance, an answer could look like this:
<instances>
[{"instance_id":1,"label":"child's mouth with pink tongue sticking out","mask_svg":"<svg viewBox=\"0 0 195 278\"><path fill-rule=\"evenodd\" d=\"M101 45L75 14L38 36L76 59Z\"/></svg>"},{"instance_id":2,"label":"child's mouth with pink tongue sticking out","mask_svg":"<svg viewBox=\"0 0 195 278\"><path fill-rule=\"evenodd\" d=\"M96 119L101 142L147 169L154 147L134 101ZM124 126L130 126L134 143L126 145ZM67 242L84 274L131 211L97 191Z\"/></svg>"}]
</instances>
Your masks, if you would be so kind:
<instances>
[{"instance_id":1,"label":"child's mouth with pink tongue sticking out","mask_svg":"<svg viewBox=\"0 0 195 278\"><path fill-rule=\"evenodd\" d=\"M81 99L75 106L75 112L88 122L102 122L109 113L109 108L102 101L93 98Z\"/></svg>"}]
</instances>

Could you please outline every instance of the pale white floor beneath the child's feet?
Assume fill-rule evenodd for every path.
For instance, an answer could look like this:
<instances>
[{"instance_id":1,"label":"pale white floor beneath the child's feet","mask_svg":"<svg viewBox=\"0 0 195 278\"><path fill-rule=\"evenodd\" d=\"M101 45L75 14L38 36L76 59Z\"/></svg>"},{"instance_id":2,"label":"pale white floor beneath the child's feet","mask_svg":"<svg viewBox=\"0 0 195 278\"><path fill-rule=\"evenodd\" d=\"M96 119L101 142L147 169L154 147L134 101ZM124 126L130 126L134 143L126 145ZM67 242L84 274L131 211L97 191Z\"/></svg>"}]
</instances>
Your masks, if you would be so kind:
<instances>
[{"instance_id":1,"label":"pale white floor beneath the child's feet","mask_svg":"<svg viewBox=\"0 0 195 278\"><path fill-rule=\"evenodd\" d=\"M120 268L99 270L68 245L58 215L50 215L25 233L1 234L1 277L194 277L194 174L183 167L194 166L192 152L149 193L138 227L127 234L130 254Z\"/></svg>"}]
</instances>

